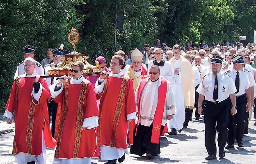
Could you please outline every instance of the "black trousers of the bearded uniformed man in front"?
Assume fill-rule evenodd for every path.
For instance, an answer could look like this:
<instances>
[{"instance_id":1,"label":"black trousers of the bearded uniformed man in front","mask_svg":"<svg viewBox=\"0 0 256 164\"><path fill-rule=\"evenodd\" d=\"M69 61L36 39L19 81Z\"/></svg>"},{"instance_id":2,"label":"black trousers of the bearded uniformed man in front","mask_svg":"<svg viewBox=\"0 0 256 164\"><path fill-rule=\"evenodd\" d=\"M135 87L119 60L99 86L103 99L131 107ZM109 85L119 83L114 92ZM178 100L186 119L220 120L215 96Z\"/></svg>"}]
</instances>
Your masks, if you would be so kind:
<instances>
[{"instance_id":1,"label":"black trousers of the bearded uniformed man in front","mask_svg":"<svg viewBox=\"0 0 256 164\"><path fill-rule=\"evenodd\" d=\"M205 146L209 155L216 155L217 148L215 143L216 130L218 134L218 147L223 150L228 137L228 118L230 111L230 99L215 104L206 101L206 109L204 111L205 124ZM217 123L217 125L216 125Z\"/></svg>"}]
</instances>

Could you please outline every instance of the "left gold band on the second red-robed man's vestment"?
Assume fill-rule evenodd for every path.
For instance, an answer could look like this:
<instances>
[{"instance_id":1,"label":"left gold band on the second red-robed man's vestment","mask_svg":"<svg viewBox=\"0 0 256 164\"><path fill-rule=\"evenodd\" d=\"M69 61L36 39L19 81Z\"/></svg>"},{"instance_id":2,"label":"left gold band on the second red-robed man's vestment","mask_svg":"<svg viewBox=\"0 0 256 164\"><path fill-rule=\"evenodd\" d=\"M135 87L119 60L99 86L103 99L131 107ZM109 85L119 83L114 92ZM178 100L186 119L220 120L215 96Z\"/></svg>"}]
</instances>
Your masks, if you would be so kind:
<instances>
[{"instance_id":1,"label":"left gold band on the second red-robed man's vestment","mask_svg":"<svg viewBox=\"0 0 256 164\"><path fill-rule=\"evenodd\" d=\"M63 127L64 127L64 122L65 122L65 119L66 119L66 115L68 113L68 106L67 106L67 100L68 100L68 91L69 91L69 81L70 79L66 80L64 82L64 91L65 91L65 95L64 95L64 107L63 107L63 114L62 114L62 118L61 120L59 119L60 116L61 116L61 110L59 111L59 115L58 115L58 126L57 128L59 127L59 129L56 129L57 132L57 147L56 147L56 150L55 150L55 156L56 158L59 158L59 149L60 149L60 141L61 141L61 137L62 137L62 130L63 130ZM61 106L59 106L61 108Z\"/></svg>"}]
</instances>

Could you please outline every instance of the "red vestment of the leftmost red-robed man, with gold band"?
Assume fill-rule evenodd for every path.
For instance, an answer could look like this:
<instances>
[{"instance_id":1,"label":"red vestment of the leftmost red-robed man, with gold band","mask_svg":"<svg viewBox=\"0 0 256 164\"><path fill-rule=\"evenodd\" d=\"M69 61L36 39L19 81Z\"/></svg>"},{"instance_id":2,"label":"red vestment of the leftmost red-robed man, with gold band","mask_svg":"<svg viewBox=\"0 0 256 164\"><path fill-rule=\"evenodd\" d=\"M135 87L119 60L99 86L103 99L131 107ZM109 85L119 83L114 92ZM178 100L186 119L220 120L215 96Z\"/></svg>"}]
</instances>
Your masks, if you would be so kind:
<instances>
[{"instance_id":1,"label":"red vestment of the leftmost red-robed man, with gold band","mask_svg":"<svg viewBox=\"0 0 256 164\"><path fill-rule=\"evenodd\" d=\"M32 97L34 78L17 77L12 85L5 109L15 114L13 154L23 152L40 155L42 153L42 132L46 147L56 146L56 141L50 132L46 103L50 91L46 80L39 79L39 82L43 90L38 102Z\"/></svg>"}]
</instances>

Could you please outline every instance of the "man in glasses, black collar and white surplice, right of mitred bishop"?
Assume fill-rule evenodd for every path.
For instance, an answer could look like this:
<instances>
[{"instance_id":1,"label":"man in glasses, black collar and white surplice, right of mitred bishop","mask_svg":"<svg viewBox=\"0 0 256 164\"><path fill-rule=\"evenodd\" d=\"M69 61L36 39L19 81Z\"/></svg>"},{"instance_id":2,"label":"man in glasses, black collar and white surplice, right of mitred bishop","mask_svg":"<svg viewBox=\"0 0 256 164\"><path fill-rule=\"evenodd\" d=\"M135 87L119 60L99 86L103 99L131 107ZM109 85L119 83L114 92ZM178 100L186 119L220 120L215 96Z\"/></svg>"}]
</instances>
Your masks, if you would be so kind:
<instances>
[{"instance_id":1,"label":"man in glasses, black collar and white surplice, right of mitred bishop","mask_svg":"<svg viewBox=\"0 0 256 164\"><path fill-rule=\"evenodd\" d=\"M174 70L171 63L162 60L162 48L155 48L154 55L155 60L149 61L149 67L157 65L160 68L161 76L172 82L174 78Z\"/></svg>"}]
</instances>

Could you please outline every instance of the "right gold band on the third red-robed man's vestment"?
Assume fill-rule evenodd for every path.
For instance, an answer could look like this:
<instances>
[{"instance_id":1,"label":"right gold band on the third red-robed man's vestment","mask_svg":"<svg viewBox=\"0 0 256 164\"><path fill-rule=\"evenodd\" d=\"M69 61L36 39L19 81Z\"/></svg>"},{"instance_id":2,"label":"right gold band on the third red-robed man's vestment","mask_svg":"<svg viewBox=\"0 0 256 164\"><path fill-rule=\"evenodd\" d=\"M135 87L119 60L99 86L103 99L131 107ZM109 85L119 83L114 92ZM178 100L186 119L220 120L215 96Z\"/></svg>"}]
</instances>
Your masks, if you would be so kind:
<instances>
[{"instance_id":1,"label":"right gold band on the third red-robed man's vestment","mask_svg":"<svg viewBox=\"0 0 256 164\"><path fill-rule=\"evenodd\" d=\"M115 114L114 114L114 119L113 119L113 124L112 124L112 134L110 137L110 147L115 147L115 141L116 141L116 135L117 135L117 125L119 122L119 118L121 115L121 110L123 107L123 98L124 98L124 91L126 89L126 84L127 81L130 77L128 77L127 75L124 75L123 77L123 81L122 81L122 85L121 85L121 90L119 93L119 98L118 98L118 102L117 102L117 108L115 110Z\"/></svg>"}]
</instances>

